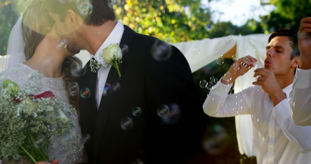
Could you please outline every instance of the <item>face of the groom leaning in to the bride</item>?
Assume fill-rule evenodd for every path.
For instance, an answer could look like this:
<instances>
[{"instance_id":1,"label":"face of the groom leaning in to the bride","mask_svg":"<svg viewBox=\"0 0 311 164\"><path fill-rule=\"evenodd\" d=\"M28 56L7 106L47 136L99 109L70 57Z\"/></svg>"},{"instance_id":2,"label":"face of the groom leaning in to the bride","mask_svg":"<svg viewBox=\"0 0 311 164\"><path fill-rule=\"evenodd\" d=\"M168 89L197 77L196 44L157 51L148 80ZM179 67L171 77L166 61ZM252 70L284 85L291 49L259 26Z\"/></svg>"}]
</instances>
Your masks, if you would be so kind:
<instances>
[{"instance_id":1,"label":"face of the groom leaning in to the bride","mask_svg":"<svg viewBox=\"0 0 311 164\"><path fill-rule=\"evenodd\" d=\"M72 14L67 15L63 20L58 14L50 12L50 16L55 21L55 31L56 33L66 41L67 50L69 52L77 52L81 48L77 46L77 23L73 21Z\"/></svg>"}]
</instances>

